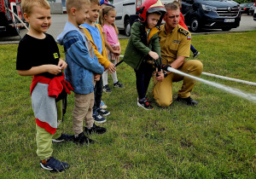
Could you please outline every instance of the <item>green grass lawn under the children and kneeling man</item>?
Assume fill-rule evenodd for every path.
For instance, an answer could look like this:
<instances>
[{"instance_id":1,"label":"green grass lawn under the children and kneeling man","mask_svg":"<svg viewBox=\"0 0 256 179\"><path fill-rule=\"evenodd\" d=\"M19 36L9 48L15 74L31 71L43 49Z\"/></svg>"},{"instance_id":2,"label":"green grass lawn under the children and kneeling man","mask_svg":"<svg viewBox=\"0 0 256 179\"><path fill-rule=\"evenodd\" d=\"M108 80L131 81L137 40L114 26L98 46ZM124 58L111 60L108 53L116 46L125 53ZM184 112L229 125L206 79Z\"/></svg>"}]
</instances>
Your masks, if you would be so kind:
<instances>
[{"instance_id":1,"label":"green grass lawn under the children and kneeling man","mask_svg":"<svg viewBox=\"0 0 256 179\"><path fill-rule=\"evenodd\" d=\"M256 31L197 35L193 45L204 72L256 82ZM122 54L127 40L120 40ZM111 114L104 135L90 136L93 145L53 144L54 157L70 169L42 170L36 154L35 122L29 95L32 77L15 71L17 45L0 45L0 178L255 178L255 103L197 83L192 98L197 107L173 101L153 111L137 107L135 74L118 66L124 90L112 88L103 101ZM61 56L64 58L63 49ZM28 51L29 54L29 51ZM202 75L201 78L256 94L255 86ZM173 97L181 83L174 84ZM148 97L152 100L150 91ZM73 94L61 128L73 134Z\"/></svg>"}]
</instances>

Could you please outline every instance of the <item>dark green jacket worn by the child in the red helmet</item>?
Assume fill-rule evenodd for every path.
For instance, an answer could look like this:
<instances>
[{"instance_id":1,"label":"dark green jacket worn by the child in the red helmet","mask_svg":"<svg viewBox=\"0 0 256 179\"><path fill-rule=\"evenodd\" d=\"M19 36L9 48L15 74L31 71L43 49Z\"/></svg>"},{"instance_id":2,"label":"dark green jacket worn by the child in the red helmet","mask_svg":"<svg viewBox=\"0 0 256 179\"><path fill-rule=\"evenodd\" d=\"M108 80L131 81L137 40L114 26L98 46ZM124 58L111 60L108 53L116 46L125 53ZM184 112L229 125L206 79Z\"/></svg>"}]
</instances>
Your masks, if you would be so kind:
<instances>
[{"instance_id":1,"label":"dark green jacket worn by the child in the red helmet","mask_svg":"<svg viewBox=\"0 0 256 179\"><path fill-rule=\"evenodd\" d=\"M154 51L160 56L158 32L159 30L156 27L152 28L147 38L143 23L140 21L134 22L131 26L131 37L125 49L125 63L138 70L143 60L147 60L149 51ZM159 60L158 63L160 64Z\"/></svg>"}]
</instances>

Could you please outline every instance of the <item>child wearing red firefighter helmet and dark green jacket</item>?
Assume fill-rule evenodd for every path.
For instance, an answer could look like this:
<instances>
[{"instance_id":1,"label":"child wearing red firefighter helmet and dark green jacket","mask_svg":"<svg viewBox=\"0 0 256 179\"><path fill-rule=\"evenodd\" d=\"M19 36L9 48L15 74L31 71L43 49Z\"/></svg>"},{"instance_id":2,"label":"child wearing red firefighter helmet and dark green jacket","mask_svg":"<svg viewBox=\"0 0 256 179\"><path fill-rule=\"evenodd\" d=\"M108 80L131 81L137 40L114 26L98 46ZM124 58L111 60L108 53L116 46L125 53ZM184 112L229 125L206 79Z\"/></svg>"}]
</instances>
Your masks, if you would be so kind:
<instances>
[{"instance_id":1,"label":"child wearing red firefighter helmet and dark green jacket","mask_svg":"<svg viewBox=\"0 0 256 179\"><path fill-rule=\"evenodd\" d=\"M160 57L159 30L155 27L160 25L163 15L166 13L160 0L146 0L139 9L139 21L131 26L131 37L125 49L124 61L134 68L137 79L137 105L146 110L152 110L146 97L148 84L154 71L148 61ZM160 61L158 61L160 63Z\"/></svg>"}]
</instances>

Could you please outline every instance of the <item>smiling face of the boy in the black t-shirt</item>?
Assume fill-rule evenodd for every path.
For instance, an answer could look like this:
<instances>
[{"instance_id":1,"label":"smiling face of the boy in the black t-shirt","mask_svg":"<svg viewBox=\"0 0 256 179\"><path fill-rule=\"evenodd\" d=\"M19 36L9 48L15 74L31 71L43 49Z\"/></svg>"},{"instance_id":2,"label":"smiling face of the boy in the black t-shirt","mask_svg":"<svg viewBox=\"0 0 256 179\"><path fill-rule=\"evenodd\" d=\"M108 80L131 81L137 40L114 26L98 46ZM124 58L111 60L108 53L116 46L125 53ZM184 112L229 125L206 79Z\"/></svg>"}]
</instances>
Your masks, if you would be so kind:
<instances>
[{"instance_id":1,"label":"smiling face of the boy in the black t-shirt","mask_svg":"<svg viewBox=\"0 0 256 179\"><path fill-rule=\"evenodd\" d=\"M30 25L30 32L40 34L47 32L51 25L50 9L33 6L31 14L24 14L26 21Z\"/></svg>"}]
</instances>

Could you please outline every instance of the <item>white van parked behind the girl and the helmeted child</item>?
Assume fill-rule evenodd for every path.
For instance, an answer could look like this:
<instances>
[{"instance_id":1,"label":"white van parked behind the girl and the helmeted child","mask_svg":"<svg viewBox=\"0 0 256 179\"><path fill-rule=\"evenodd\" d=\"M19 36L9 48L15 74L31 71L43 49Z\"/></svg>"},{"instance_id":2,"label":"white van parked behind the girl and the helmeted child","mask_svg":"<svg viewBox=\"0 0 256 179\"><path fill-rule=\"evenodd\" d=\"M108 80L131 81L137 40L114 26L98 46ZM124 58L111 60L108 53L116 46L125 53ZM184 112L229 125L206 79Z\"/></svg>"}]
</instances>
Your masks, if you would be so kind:
<instances>
[{"instance_id":1,"label":"white van parked behind the girl and the helmeted child","mask_svg":"<svg viewBox=\"0 0 256 179\"><path fill-rule=\"evenodd\" d=\"M162 3L172 3L174 0L163 0ZM116 10L114 24L119 30L125 30L125 36L130 36L131 25L137 20L136 9L142 5L144 0L112 0Z\"/></svg>"}]
</instances>

